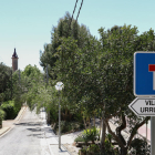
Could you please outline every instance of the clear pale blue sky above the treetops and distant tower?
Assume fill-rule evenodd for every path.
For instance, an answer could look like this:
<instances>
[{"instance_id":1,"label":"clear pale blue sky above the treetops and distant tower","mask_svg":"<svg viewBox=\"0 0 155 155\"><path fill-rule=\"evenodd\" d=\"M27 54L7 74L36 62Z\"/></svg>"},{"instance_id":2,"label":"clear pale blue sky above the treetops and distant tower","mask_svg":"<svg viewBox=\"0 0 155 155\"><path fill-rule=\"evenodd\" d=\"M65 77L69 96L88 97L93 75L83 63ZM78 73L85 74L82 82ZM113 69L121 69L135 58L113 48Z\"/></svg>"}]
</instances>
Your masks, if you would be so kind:
<instances>
[{"instance_id":1,"label":"clear pale blue sky above the treetops and distant tower","mask_svg":"<svg viewBox=\"0 0 155 155\"><path fill-rule=\"evenodd\" d=\"M81 6L79 0L74 19ZM40 66L40 51L51 43L51 31L69 11L72 16L75 0L0 0L0 62L12 66L16 48L19 69L29 64ZM140 34L155 30L154 0L83 0L79 23L100 39L97 30L113 25L136 25Z\"/></svg>"}]
</instances>

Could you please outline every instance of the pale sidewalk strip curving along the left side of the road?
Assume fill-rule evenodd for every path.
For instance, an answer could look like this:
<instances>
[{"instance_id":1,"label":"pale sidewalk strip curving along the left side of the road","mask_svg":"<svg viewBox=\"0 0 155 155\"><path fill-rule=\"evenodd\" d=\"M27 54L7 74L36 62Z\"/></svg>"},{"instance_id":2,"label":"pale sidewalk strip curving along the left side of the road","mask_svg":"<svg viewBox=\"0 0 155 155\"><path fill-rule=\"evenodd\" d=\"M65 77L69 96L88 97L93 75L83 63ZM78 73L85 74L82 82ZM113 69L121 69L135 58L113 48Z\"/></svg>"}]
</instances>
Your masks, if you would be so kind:
<instances>
[{"instance_id":1,"label":"pale sidewalk strip curving along the left side of the road","mask_svg":"<svg viewBox=\"0 0 155 155\"><path fill-rule=\"evenodd\" d=\"M0 128L0 137L3 136L8 131L10 131L14 126L14 123L19 122L27 106L22 106L18 116L14 120L2 121L2 128Z\"/></svg>"}]
</instances>

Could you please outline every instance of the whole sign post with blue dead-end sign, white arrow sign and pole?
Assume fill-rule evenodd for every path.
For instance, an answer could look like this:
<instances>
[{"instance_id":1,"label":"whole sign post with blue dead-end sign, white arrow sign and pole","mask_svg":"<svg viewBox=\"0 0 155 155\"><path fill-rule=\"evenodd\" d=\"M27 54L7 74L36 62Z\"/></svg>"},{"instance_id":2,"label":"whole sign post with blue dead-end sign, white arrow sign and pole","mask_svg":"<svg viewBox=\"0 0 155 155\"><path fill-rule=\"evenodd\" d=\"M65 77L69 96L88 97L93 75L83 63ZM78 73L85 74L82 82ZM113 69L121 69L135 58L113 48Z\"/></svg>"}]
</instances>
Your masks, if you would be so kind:
<instances>
[{"instance_id":1,"label":"whole sign post with blue dead-end sign, white arrow sign and pole","mask_svg":"<svg viewBox=\"0 0 155 155\"><path fill-rule=\"evenodd\" d=\"M151 154L155 155L155 52L134 53L134 95L128 107L140 116L151 116Z\"/></svg>"}]
</instances>

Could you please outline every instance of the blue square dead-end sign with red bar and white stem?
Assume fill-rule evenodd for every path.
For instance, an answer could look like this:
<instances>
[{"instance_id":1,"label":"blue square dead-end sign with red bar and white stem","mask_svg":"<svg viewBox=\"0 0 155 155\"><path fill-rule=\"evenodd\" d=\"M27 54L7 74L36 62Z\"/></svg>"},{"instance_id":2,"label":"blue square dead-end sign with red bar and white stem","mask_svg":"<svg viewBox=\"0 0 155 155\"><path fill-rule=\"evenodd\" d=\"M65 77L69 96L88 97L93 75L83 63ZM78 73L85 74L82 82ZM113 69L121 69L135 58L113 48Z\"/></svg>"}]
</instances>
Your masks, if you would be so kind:
<instances>
[{"instance_id":1,"label":"blue square dead-end sign with red bar and white stem","mask_svg":"<svg viewBox=\"0 0 155 155\"><path fill-rule=\"evenodd\" d=\"M134 53L134 95L155 96L155 52Z\"/></svg>"}]
</instances>

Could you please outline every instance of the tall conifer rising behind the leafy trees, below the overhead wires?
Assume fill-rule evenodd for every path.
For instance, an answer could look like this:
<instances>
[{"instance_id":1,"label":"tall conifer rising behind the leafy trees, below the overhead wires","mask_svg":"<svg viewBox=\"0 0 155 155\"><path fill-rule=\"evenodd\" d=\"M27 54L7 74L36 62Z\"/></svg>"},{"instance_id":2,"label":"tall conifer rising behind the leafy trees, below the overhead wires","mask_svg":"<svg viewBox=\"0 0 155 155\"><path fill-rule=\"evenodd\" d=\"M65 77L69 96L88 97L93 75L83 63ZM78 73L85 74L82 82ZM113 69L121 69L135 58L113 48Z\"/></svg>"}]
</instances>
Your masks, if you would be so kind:
<instances>
[{"instance_id":1,"label":"tall conifer rising behind the leafy trees, below the overhead wires","mask_svg":"<svg viewBox=\"0 0 155 155\"><path fill-rule=\"evenodd\" d=\"M49 64L49 75L52 80L56 80L54 71L55 62L59 59L58 48L61 45L61 38L72 37L78 40L78 46L84 48L85 38L92 37L89 29L85 25L79 25L75 20L72 20L71 28L69 22L71 16L69 12L65 13L58 22L58 27L53 27L51 32L51 43L44 45L43 54L40 59L40 64L45 70Z\"/></svg>"}]
</instances>

